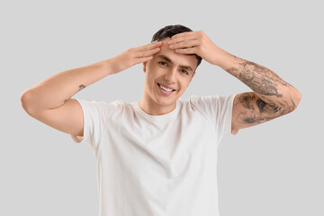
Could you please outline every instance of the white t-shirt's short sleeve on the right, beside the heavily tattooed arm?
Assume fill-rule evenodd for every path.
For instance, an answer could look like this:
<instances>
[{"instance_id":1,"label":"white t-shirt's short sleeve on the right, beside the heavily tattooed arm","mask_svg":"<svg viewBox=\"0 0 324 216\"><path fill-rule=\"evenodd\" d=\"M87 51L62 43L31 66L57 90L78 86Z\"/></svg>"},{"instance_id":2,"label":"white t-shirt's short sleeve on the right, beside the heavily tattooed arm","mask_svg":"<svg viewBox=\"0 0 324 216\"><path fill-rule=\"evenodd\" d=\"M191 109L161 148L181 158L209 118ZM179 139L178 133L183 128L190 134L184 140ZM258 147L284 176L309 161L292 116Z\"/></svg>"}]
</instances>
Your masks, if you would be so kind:
<instances>
[{"instance_id":1,"label":"white t-shirt's short sleeve on the right, beside the heavily tattooed arm","mask_svg":"<svg viewBox=\"0 0 324 216\"><path fill-rule=\"evenodd\" d=\"M218 139L231 134L231 116L236 94L229 96L191 96L190 100L197 110L210 118Z\"/></svg>"}]
</instances>

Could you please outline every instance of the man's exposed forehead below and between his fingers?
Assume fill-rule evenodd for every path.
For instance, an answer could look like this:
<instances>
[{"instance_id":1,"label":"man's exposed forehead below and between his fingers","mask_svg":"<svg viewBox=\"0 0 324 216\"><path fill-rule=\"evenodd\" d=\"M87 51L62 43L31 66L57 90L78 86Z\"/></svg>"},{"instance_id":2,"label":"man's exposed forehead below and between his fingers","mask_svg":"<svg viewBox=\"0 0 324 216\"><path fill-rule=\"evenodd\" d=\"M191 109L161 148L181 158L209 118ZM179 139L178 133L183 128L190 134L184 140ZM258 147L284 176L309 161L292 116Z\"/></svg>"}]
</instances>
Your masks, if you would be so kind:
<instances>
[{"instance_id":1,"label":"man's exposed forehead below and between his fingers","mask_svg":"<svg viewBox=\"0 0 324 216\"><path fill-rule=\"evenodd\" d=\"M170 58L176 65L189 65L193 67L197 67L197 58L193 55L185 55L179 54L175 52L175 49L170 49L168 45L168 41L170 38L165 38L162 41L162 46L159 52L154 55L154 58L157 58L158 55L165 55Z\"/></svg>"}]
</instances>

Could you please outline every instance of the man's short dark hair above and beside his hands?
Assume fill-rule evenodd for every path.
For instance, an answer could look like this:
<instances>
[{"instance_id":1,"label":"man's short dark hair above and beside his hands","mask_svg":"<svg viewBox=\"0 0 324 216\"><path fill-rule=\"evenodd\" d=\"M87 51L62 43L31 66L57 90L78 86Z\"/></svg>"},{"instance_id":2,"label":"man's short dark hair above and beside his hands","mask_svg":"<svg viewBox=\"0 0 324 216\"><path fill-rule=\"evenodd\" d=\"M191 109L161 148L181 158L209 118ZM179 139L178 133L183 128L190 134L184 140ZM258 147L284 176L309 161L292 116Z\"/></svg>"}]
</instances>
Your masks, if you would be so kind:
<instances>
[{"instance_id":1,"label":"man's short dark hair above and beside his hands","mask_svg":"<svg viewBox=\"0 0 324 216\"><path fill-rule=\"evenodd\" d=\"M151 42L153 42L155 40L160 41L165 38L171 38L175 34L182 33L185 31L192 31L192 30L189 29L188 27L185 27L184 25L180 25L180 24L166 25L166 27L160 29L153 35ZM197 67L202 62L202 58L200 56L198 56L196 54L188 54L188 55L194 55L197 58L197 60L198 60Z\"/></svg>"}]
</instances>

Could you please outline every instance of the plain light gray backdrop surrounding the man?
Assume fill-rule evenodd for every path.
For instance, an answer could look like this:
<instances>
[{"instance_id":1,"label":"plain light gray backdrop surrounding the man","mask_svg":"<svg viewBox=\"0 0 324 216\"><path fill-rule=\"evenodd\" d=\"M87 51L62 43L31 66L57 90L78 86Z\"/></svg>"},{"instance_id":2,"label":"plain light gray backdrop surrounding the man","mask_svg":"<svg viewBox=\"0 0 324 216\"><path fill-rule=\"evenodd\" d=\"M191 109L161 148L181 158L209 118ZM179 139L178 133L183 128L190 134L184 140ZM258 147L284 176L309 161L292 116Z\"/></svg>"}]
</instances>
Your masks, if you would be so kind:
<instances>
[{"instance_id":1,"label":"plain light gray backdrop surrounding the man","mask_svg":"<svg viewBox=\"0 0 324 216\"><path fill-rule=\"evenodd\" d=\"M98 215L94 152L23 111L23 90L61 71L147 44L168 24L274 70L302 92L295 112L223 139L220 216L322 216L323 20L320 1L2 1L0 215ZM139 101L141 65L75 98ZM249 91L206 62L182 96Z\"/></svg>"}]
</instances>

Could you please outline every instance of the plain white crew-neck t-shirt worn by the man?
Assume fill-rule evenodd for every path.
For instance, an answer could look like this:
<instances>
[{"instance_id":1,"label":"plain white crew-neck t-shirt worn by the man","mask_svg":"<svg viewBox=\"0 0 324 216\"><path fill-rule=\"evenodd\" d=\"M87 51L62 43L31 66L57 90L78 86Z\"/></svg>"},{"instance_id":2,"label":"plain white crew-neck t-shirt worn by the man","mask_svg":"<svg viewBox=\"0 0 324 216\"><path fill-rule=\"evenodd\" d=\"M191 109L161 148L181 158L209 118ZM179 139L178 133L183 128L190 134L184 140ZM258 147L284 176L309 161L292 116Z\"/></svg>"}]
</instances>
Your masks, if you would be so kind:
<instances>
[{"instance_id":1,"label":"plain white crew-neck t-shirt worn by the man","mask_svg":"<svg viewBox=\"0 0 324 216\"><path fill-rule=\"evenodd\" d=\"M85 124L74 140L94 149L100 216L218 216L217 149L234 97L180 98L164 115L76 99Z\"/></svg>"}]
</instances>

